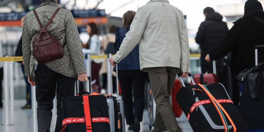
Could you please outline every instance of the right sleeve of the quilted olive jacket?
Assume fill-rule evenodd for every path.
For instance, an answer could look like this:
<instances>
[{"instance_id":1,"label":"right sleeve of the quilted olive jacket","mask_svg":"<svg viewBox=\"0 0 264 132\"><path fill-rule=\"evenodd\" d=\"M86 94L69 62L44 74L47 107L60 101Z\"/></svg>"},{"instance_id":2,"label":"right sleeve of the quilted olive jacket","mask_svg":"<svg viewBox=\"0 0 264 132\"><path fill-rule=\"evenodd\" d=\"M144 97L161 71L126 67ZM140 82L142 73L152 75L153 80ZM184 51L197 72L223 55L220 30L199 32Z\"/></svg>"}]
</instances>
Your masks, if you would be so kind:
<instances>
[{"instance_id":1,"label":"right sleeve of the quilted olive jacket","mask_svg":"<svg viewBox=\"0 0 264 132\"><path fill-rule=\"evenodd\" d=\"M70 11L66 14L65 19L66 24L66 46L69 50L75 74L79 75L86 73L83 53L82 53L82 43L79 36L79 32Z\"/></svg>"}]
</instances>

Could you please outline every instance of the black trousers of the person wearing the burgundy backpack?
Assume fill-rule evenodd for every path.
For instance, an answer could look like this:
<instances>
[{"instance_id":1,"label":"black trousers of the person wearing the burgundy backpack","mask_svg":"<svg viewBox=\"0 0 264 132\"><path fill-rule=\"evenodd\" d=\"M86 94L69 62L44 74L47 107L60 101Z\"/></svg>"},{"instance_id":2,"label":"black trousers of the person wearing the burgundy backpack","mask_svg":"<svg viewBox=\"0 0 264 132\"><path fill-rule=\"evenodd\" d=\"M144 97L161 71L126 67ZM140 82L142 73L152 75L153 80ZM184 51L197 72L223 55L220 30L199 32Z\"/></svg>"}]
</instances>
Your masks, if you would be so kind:
<instances>
[{"instance_id":1,"label":"black trousers of the person wearing the burgundy backpack","mask_svg":"<svg viewBox=\"0 0 264 132\"><path fill-rule=\"evenodd\" d=\"M38 132L50 132L53 99L57 94L57 123L55 132L62 130L61 101L74 95L75 78L59 74L46 65L38 65L35 71L36 100L38 102Z\"/></svg>"}]
</instances>

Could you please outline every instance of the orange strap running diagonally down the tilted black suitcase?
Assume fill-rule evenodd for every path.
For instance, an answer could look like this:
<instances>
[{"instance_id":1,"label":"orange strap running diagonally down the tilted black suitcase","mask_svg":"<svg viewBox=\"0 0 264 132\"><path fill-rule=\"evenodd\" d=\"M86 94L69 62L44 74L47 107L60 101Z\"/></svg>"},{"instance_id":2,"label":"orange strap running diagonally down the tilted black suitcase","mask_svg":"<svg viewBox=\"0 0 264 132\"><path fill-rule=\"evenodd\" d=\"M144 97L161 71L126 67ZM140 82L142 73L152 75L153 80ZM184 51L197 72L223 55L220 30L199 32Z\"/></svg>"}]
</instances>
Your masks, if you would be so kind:
<instances>
[{"instance_id":1,"label":"orange strap running diagonally down the tilted black suitcase","mask_svg":"<svg viewBox=\"0 0 264 132\"><path fill-rule=\"evenodd\" d=\"M217 101L217 99L214 98L214 96L202 85L202 84L198 84L202 89L204 89L204 91L206 92L206 94L209 96L209 98L212 100L213 104L216 106L216 104L221 108L221 110L224 112L224 114L227 116L228 120L230 121L230 123L232 124L233 128L234 128L234 132L236 132L236 126L233 123L231 117L229 116L229 114L226 112L226 110L223 108L223 106ZM215 104L216 103L216 104ZM218 110L218 109L217 109ZM219 115L221 115L221 112L218 110ZM222 119L222 117L221 117ZM223 121L223 119L222 119ZM224 123L224 121L223 121ZM225 126L226 127L226 126ZM226 128L225 128L225 132L226 132Z\"/></svg>"}]
</instances>

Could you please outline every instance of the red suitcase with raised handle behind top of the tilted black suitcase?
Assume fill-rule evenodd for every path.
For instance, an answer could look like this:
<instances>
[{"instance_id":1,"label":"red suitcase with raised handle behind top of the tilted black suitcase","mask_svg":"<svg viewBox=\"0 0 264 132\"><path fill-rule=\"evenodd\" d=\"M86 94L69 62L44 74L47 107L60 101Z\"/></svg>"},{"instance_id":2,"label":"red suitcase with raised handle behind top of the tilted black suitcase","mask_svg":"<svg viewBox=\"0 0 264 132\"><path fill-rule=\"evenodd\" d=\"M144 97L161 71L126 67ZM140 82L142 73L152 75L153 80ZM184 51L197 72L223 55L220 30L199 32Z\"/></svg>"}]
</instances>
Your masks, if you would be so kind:
<instances>
[{"instance_id":1,"label":"red suitcase with raised handle behind top of the tilted black suitcase","mask_svg":"<svg viewBox=\"0 0 264 132\"><path fill-rule=\"evenodd\" d=\"M212 84L212 83L218 83L218 78L216 76L216 61L213 61L213 71L214 73L208 73L208 74L194 74L194 82L196 84Z\"/></svg>"}]
</instances>

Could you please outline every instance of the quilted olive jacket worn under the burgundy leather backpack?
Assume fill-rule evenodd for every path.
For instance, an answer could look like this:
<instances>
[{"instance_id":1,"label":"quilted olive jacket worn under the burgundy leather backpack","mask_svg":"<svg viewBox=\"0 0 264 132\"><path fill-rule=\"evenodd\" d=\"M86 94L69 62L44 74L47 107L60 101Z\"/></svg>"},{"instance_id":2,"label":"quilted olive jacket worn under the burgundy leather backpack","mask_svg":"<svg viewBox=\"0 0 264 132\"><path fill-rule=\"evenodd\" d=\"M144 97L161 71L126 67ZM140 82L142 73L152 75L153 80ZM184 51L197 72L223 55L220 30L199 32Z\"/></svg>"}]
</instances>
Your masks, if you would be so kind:
<instances>
[{"instance_id":1,"label":"quilted olive jacket worn under the burgundy leather backpack","mask_svg":"<svg viewBox=\"0 0 264 132\"><path fill-rule=\"evenodd\" d=\"M50 3L41 4L36 9L43 27L46 26L58 8L57 4ZM47 29L61 44L66 41L66 46L64 47L64 56L61 59L47 62L45 65L51 70L68 77L76 77L79 74L86 73L82 44L72 13L67 9L60 9ZM23 59L27 77L32 77L34 71L36 59L33 54L32 40L39 34L39 31L38 21L33 11L30 11L26 14L22 33Z\"/></svg>"}]
</instances>

